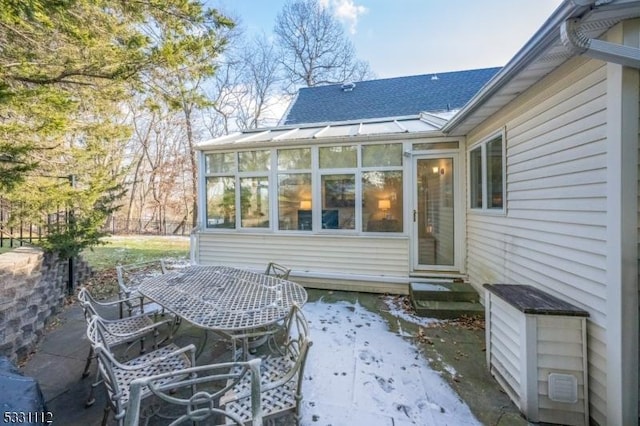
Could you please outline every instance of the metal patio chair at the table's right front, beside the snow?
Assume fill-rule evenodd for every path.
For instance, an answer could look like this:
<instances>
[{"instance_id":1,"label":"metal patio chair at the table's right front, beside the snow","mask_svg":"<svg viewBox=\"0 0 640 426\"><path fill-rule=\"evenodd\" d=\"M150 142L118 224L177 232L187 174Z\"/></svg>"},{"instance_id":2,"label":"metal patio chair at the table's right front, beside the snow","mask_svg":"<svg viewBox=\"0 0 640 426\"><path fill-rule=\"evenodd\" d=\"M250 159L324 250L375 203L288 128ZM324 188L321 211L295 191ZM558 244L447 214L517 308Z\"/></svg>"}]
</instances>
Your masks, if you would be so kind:
<instances>
[{"instance_id":1,"label":"metal patio chair at the table's right front, beside the snow","mask_svg":"<svg viewBox=\"0 0 640 426\"><path fill-rule=\"evenodd\" d=\"M291 413L299 425L303 373L312 342L307 320L297 305L285 320L285 330L285 335L274 336L274 343L270 343L275 353L260 364L261 408L264 420ZM251 398L243 396L249 393L250 385L249 381L241 380L220 401L226 411L244 421L248 421L251 414Z\"/></svg>"}]
</instances>

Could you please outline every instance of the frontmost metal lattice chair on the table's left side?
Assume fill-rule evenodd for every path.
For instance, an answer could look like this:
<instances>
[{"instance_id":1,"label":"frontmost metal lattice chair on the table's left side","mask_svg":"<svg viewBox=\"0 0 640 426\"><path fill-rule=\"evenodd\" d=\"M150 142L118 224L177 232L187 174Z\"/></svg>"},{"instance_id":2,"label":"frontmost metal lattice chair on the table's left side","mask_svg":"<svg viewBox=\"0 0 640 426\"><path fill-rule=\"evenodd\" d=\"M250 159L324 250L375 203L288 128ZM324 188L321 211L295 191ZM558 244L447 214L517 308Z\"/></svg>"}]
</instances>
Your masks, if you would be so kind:
<instances>
[{"instance_id":1,"label":"frontmost metal lattice chair on the table's left side","mask_svg":"<svg viewBox=\"0 0 640 426\"><path fill-rule=\"evenodd\" d=\"M154 383L163 385L176 382L186 377L180 370L195 365L195 346L179 348L173 343L121 363L108 349L106 328L97 316L91 318L87 336L98 357L98 369L107 390L102 426L107 424L111 410L118 425L124 424L124 417L129 408L130 384L135 379L168 373ZM139 398L148 395L148 390L143 390Z\"/></svg>"}]
</instances>

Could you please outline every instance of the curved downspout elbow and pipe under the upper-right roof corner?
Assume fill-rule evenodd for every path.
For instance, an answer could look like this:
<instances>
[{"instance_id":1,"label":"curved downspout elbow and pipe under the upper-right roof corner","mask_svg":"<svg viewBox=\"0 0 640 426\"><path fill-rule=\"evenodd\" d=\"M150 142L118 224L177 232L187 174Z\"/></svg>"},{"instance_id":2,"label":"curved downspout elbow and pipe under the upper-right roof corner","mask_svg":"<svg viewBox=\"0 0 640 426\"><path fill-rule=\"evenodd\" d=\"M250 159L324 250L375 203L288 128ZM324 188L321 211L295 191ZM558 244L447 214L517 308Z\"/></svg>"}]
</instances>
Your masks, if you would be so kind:
<instances>
[{"instance_id":1,"label":"curved downspout elbow and pipe under the upper-right roof corner","mask_svg":"<svg viewBox=\"0 0 640 426\"><path fill-rule=\"evenodd\" d=\"M605 62L640 68L640 49L623 44L588 38L579 19L567 19L560 26L562 44L577 55L585 55Z\"/></svg>"}]
</instances>

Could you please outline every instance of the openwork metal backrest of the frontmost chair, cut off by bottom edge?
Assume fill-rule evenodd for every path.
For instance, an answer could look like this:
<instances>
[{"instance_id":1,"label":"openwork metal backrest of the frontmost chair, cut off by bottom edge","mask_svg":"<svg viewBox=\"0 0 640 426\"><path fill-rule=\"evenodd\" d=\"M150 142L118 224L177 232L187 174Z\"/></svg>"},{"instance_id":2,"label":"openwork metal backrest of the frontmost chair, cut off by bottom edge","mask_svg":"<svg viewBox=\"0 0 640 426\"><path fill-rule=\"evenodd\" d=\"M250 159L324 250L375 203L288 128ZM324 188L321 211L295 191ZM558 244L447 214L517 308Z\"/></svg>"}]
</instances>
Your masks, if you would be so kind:
<instances>
[{"instance_id":1,"label":"openwork metal backrest of the frontmost chair, cut off by bottom edge","mask_svg":"<svg viewBox=\"0 0 640 426\"><path fill-rule=\"evenodd\" d=\"M207 425L244 425L238 415L220 408L220 402L238 382L248 377L251 380L251 424L262 426L260 363L257 358L248 362L201 365L135 379L130 386L129 409L124 424L138 426L142 399L151 393L157 397L156 401L168 405L163 405L161 410L163 415L168 414L175 419L170 425L200 421ZM163 383L163 379L176 374L184 375L186 379Z\"/></svg>"}]
</instances>

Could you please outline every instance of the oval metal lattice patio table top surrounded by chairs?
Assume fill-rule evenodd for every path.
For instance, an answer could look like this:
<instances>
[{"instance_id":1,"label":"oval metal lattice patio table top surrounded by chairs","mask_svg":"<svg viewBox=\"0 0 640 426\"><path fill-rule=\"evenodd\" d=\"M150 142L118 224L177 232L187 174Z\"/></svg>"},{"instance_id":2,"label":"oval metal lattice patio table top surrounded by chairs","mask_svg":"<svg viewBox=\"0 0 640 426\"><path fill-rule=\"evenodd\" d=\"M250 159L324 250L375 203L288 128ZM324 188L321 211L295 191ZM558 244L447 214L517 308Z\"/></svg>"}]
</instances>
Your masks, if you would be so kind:
<instances>
[{"instance_id":1,"label":"oval metal lattice patio table top surrounded by chairs","mask_svg":"<svg viewBox=\"0 0 640 426\"><path fill-rule=\"evenodd\" d=\"M228 266L190 266L148 278L138 291L189 323L234 335L284 319L307 301L297 283Z\"/></svg>"}]
</instances>

